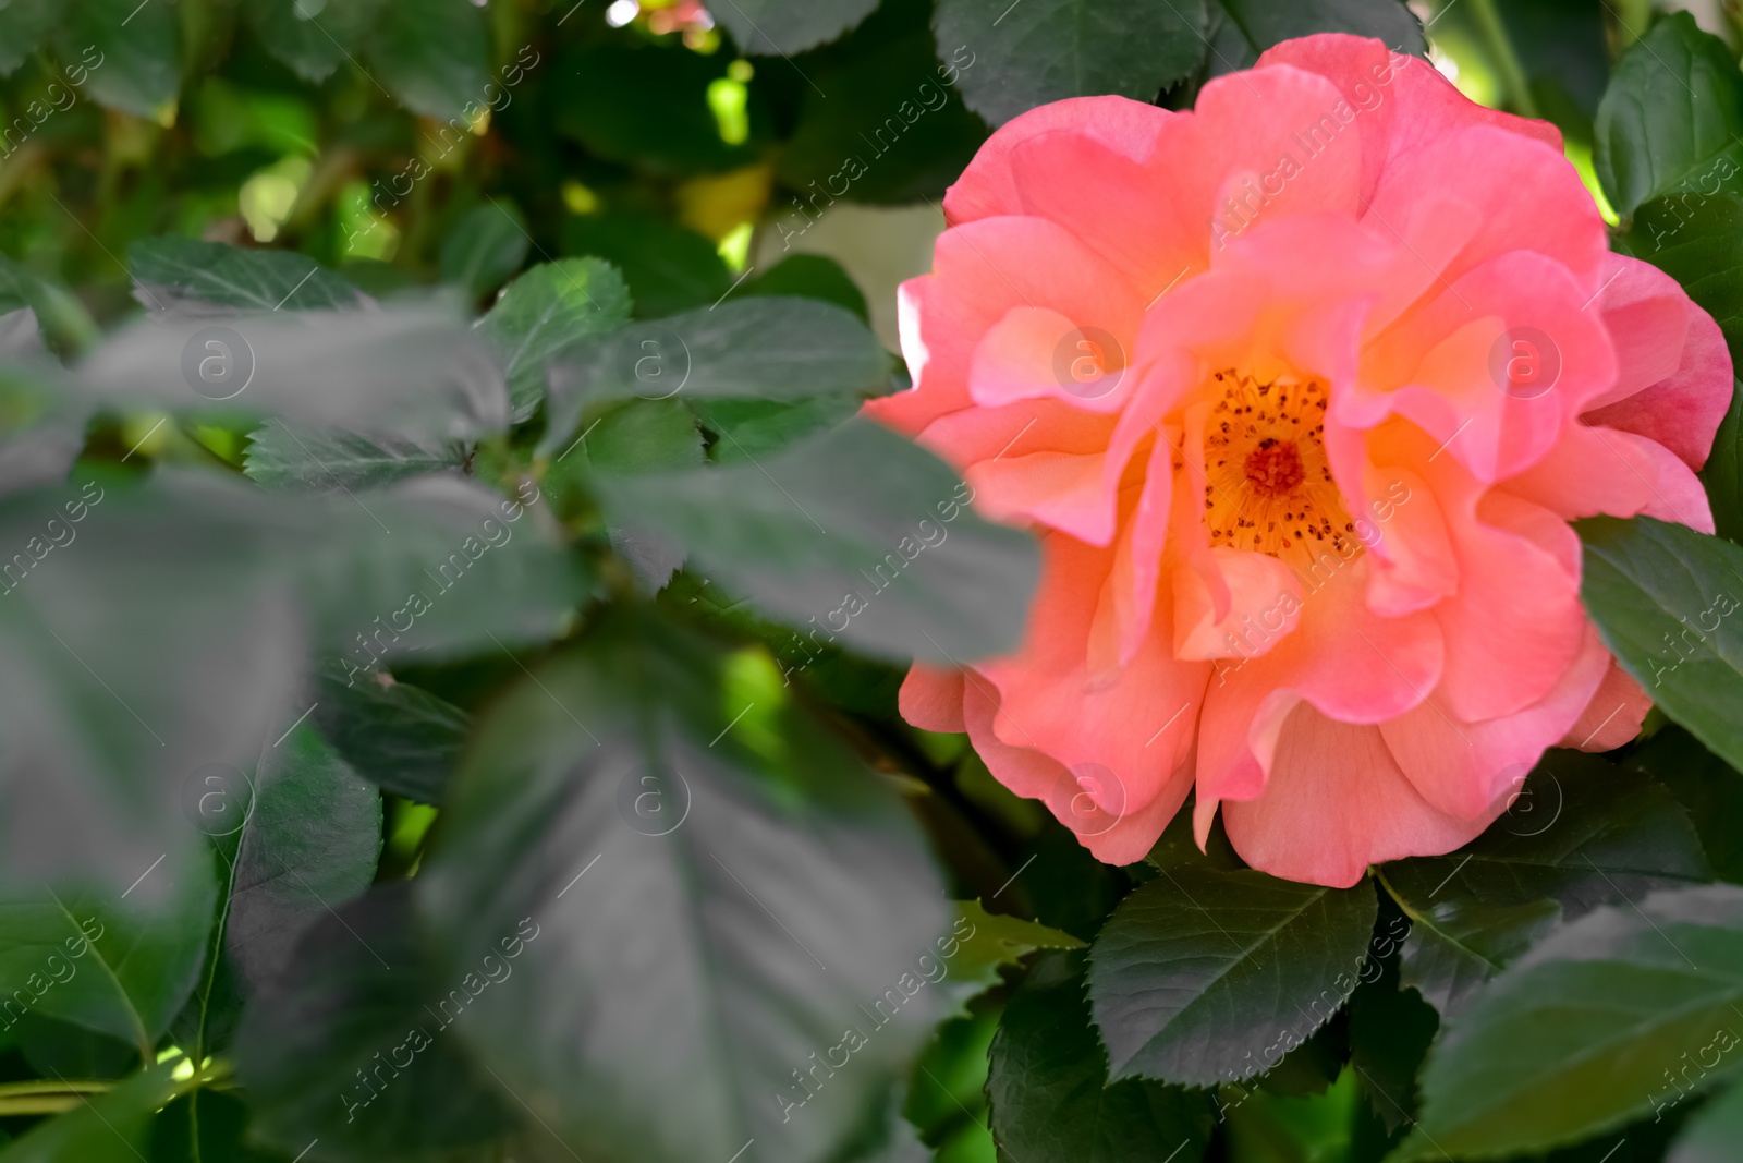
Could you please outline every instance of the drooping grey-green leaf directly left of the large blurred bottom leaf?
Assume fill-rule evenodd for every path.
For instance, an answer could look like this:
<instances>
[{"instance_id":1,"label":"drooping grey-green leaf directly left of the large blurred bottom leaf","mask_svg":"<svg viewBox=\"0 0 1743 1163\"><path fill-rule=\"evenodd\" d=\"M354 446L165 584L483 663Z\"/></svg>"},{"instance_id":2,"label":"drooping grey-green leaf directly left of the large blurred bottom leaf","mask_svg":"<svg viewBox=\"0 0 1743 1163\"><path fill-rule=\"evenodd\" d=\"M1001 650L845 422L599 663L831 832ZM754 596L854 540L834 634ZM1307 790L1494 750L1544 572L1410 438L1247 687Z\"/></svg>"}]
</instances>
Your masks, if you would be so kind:
<instances>
[{"instance_id":1,"label":"drooping grey-green leaf directly left of the large blurred bottom leaf","mask_svg":"<svg viewBox=\"0 0 1743 1163\"><path fill-rule=\"evenodd\" d=\"M230 877L225 949L254 989L328 908L375 881L382 793L310 725L261 748Z\"/></svg>"}]
</instances>

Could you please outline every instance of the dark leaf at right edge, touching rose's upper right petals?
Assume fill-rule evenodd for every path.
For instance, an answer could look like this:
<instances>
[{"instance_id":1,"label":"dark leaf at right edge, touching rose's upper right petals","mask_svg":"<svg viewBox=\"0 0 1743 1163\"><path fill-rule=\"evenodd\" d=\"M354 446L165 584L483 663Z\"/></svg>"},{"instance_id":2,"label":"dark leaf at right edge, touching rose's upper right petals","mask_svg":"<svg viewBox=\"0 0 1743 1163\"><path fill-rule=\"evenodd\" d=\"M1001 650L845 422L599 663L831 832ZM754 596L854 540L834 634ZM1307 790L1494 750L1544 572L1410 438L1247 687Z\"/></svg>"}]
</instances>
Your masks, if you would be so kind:
<instances>
[{"instance_id":1,"label":"dark leaf at right edge, touching rose's upper right petals","mask_svg":"<svg viewBox=\"0 0 1743 1163\"><path fill-rule=\"evenodd\" d=\"M1726 335L1736 361L1743 352L1743 197L1729 190L1677 195L1642 204L1616 249L1652 263L1682 284Z\"/></svg>"}]
</instances>

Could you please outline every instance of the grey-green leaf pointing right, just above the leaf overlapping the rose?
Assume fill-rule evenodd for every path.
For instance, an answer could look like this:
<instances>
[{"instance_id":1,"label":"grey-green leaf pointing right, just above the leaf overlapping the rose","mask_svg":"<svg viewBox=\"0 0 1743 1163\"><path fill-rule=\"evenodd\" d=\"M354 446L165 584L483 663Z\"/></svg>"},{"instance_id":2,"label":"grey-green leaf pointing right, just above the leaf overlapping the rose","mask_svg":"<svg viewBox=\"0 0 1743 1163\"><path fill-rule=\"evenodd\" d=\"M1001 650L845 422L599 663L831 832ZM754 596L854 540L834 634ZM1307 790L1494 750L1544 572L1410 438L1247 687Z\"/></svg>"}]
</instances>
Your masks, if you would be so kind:
<instances>
[{"instance_id":1,"label":"grey-green leaf pointing right, just above the leaf overlapping the rose","mask_svg":"<svg viewBox=\"0 0 1743 1163\"><path fill-rule=\"evenodd\" d=\"M546 452L566 443L575 417L589 403L716 396L863 399L887 387L889 356L863 323L833 303L739 298L575 343L561 375L553 378ZM716 431L730 448L732 429Z\"/></svg>"}]
</instances>

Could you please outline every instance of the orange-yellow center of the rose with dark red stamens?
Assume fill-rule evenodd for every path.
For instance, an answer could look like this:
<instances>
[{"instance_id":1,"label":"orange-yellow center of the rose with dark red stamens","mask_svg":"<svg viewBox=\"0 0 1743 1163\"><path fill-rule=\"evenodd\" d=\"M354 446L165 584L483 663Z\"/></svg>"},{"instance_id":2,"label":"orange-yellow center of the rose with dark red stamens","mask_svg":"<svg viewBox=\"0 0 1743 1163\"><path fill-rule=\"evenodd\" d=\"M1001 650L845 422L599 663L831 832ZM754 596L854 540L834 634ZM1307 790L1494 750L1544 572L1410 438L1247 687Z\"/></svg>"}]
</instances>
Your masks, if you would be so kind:
<instances>
[{"instance_id":1,"label":"orange-yellow center of the rose with dark red stamens","mask_svg":"<svg viewBox=\"0 0 1743 1163\"><path fill-rule=\"evenodd\" d=\"M1361 551L1325 457L1325 384L1260 384L1218 371L1204 385L1204 523L1210 544L1307 565ZM1203 399L1203 398L1201 398Z\"/></svg>"}]
</instances>

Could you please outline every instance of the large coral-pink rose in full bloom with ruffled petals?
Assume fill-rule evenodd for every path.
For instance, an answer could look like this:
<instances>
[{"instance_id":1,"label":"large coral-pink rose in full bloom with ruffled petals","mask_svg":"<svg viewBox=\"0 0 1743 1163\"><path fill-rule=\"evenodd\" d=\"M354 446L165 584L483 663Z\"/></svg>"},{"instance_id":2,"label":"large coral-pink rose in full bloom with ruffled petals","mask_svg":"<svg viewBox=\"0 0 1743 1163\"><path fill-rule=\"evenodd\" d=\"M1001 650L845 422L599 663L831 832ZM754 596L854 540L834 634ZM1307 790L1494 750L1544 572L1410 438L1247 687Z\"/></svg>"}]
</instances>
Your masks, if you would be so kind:
<instances>
[{"instance_id":1,"label":"large coral-pink rose in full bloom with ruffled petals","mask_svg":"<svg viewBox=\"0 0 1743 1163\"><path fill-rule=\"evenodd\" d=\"M905 717L1105 861L1196 786L1257 868L1330 886L1480 833L1548 746L1647 696L1569 521L1712 530L1719 328L1612 255L1551 126L1342 35L1189 113L1048 105L901 288L913 389L868 411L1028 525L1021 647L915 666Z\"/></svg>"}]
</instances>

